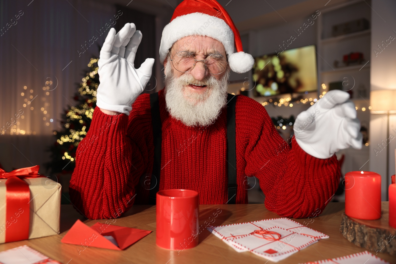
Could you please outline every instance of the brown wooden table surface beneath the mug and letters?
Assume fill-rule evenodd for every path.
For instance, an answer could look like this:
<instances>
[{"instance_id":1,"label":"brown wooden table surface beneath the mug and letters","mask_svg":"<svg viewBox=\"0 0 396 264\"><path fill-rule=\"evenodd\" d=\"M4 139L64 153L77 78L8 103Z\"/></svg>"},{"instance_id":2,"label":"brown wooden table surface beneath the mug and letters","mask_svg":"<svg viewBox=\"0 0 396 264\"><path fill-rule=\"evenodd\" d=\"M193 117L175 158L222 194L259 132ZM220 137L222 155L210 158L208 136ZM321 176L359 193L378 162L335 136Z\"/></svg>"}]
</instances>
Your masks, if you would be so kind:
<instances>
[{"instance_id":1,"label":"brown wooden table surface beneath the mug and letters","mask_svg":"<svg viewBox=\"0 0 396 264\"><path fill-rule=\"evenodd\" d=\"M330 236L328 239L321 239L317 243L302 249L278 263L304 263L308 261L335 258L365 251L348 242L339 232L341 213L344 211L344 203L329 203L324 212L316 218L293 219L307 226L323 232ZM383 202L387 207L387 202ZM239 222L249 222L268 218L278 218L275 213L268 211L264 204L241 204L241 205L200 205L200 224L208 221L208 218L218 208L221 213L215 218L213 225L232 224ZM21 245L28 245L41 253L58 260L64 264L74 263L266 263L265 258L253 255L250 252L237 253L221 239L215 237L208 230L204 230L199 235L199 244L193 249L186 249L181 252L168 251L157 247L155 244L156 230L156 208L152 205L134 205L122 217L113 219L115 225L128 226L152 230L148 236L144 237L129 248L118 251L110 249L99 249L88 247L84 251L82 247L61 243L62 237L77 219L85 219L88 226L96 222L106 222L107 220L87 220L78 214L71 205L61 206L61 234L57 236L40 237L36 239L17 241L0 244L0 251L11 249ZM212 219L212 218L211 218ZM213 221L213 220L212 220ZM374 255L375 252L371 252ZM380 258L396 263L394 256L385 253L378 253ZM272 263L268 261L267 263Z\"/></svg>"}]
</instances>

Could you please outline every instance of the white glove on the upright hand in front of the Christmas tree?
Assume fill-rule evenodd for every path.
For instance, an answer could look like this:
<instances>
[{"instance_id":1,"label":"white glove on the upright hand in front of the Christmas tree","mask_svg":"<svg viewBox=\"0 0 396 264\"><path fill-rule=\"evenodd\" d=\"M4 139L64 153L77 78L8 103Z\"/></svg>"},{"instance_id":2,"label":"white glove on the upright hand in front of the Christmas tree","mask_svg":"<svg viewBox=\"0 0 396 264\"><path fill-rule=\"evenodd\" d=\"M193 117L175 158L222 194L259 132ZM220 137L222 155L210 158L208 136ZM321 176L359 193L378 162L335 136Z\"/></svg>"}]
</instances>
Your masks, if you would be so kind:
<instances>
[{"instance_id":1,"label":"white glove on the upright hand in front of the Christmas tree","mask_svg":"<svg viewBox=\"0 0 396 264\"><path fill-rule=\"evenodd\" d=\"M145 89L154 59L146 59L140 68L135 68L135 54L141 39L142 33L133 23L126 23L117 34L110 28L98 61L100 84L96 105L99 108L129 115L132 103Z\"/></svg>"}]
</instances>

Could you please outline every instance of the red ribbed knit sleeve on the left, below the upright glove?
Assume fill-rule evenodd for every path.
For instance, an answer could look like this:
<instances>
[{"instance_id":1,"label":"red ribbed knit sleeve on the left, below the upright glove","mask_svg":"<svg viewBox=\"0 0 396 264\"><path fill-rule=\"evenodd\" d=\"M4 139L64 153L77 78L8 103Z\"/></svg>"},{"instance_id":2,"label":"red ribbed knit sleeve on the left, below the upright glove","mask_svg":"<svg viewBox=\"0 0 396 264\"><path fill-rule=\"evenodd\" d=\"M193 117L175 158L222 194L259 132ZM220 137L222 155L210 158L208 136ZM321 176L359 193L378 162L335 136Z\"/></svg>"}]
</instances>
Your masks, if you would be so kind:
<instances>
[{"instance_id":1,"label":"red ribbed knit sleeve on the left, below the upright glove","mask_svg":"<svg viewBox=\"0 0 396 264\"><path fill-rule=\"evenodd\" d=\"M131 114L108 115L95 108L89 131L76 151L69 193L74 207L90 219L115 218L135 201L135 186L147 169L147 127L141 122L147 95L133 104Z\"/></svg>"}]
</instances>

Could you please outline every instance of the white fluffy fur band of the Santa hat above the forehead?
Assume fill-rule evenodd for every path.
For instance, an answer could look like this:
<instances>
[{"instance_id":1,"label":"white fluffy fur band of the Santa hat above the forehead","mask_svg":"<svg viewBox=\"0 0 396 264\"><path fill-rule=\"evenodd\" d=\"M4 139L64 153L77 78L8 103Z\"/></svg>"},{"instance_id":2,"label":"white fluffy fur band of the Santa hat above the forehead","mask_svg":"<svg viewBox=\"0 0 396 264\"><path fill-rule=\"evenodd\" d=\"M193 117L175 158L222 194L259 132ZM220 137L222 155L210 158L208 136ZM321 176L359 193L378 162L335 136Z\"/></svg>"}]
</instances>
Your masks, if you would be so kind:
<instances>
[{"instance_id":1,"label":"white fluffy fur band of the Santa hat above the forehead","mask_svg":"<svg viewBox=\"0 0 396 264\"><path fill-rule=\"evenodd\" d=\"M208 36L218 40L223 44L227 55L235 51L234 33L227 23L221 18L196 12L176 17L164 27L160 44L160 62L164 63L173 43L193 35ZM191 43L193 41L194 39Z\"/></svg>"}]
</instances>

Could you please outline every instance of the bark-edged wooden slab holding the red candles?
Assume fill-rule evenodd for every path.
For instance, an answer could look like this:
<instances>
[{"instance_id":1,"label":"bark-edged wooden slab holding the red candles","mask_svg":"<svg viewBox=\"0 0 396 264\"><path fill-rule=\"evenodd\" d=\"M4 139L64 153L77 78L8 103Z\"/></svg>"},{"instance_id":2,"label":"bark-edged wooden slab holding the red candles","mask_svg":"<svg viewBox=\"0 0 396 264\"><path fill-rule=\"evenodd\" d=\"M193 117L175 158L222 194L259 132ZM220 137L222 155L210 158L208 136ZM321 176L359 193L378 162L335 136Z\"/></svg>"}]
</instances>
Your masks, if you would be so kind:
<instances>
[{"instance_id":1,"label":"bark-edged wooden slab holding the red candles","mask_svg":"<svg viewBox=\"0 0 396 264\"><path fill-rule=\"evenodd\" d=\"M377 253L396 256L396 229L389 226L388 202L382 203L381 218L362 220L341 216L340 233L351 243Z\"/></svg>"}]
</instances>

